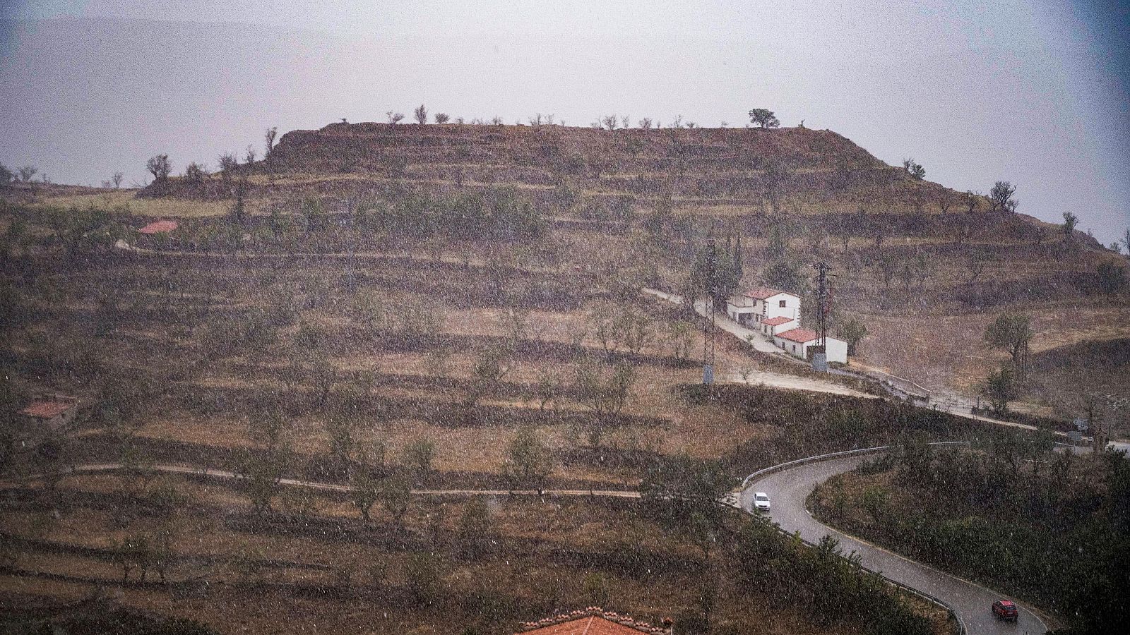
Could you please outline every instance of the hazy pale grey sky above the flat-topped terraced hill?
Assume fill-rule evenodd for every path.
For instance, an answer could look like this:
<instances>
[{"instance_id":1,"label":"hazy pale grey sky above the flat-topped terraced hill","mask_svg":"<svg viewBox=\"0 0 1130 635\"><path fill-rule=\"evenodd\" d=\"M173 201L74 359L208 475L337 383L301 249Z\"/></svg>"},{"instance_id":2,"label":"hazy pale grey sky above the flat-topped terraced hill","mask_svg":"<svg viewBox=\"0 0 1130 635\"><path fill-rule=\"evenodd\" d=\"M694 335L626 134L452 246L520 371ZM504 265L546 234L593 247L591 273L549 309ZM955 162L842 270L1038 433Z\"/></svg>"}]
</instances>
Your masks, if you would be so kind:
<instances>
[{"instance_id":1,"label":"hazy pale grey sky above the flat-topped terraced hill","mask_svg":"<svg viewBox=\"0 0 1130 635\"><path fill-rule=\"evenodd\" d=\"M211 165L262 131L425 103L832 129L1020 211L1130 227L1130 2L0 0L0 163L59 183Z\"/></svg>"}]
</instances>

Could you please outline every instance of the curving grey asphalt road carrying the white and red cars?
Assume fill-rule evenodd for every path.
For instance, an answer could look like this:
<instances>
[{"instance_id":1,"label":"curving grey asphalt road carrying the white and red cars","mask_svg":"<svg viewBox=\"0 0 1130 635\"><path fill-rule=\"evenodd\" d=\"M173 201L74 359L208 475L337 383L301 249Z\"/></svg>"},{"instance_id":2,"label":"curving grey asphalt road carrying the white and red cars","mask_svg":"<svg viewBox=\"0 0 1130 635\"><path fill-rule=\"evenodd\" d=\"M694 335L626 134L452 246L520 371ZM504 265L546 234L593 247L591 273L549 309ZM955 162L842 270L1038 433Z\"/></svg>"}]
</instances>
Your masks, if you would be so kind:
<instances>
[{"instance_id":1,"label":"curving grey asphalt road carrying the white and red cars","mask_svg":"<svg viewBox=\"0 0 1130 635\"><path fill-rule=\"evenodd\" d=\"M765 475L750 482L741 493L741 508L749 511L755 490L765 492L772 501L768 515L781 529L790 533L799 531L801 538L811 542L832 536L840 541L845 554L859 554L863 566L949 604L965 624L970 635L1034 635L1048 630L1044 623L1024 607L1020 607L1020 617L1016 624L997 620L992 616L992 603L1009 599L1006 595L841 533L809 515L805 508L805 499L817 485L854 469L867 459L869 456L858 455L802 463Z\"/></svg>"}]
</instances>

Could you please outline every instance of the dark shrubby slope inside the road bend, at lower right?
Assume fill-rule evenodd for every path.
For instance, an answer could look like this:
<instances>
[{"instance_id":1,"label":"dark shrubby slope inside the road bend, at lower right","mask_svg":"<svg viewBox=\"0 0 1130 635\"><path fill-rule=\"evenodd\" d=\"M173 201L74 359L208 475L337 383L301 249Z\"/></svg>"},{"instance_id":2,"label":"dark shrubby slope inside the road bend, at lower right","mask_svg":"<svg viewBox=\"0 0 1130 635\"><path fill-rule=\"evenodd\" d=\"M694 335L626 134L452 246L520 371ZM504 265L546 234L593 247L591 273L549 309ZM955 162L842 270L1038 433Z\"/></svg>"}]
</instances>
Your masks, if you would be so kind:
<instances>
[{"instance_id":1,"label":"dark shrubby slope inside the road bend, at lower right","mask_svg":"<svg viewBox=\"0 0 1130 635\"><path fill-rule=\"evenodd\" d=\"M1063 633L1120 633L1130 583L1130 463L998 434L973 451L911 443L810 496L822 521L1028 600Z\"/></svg>"}]
</instances>

